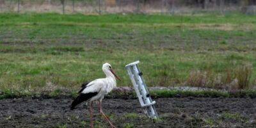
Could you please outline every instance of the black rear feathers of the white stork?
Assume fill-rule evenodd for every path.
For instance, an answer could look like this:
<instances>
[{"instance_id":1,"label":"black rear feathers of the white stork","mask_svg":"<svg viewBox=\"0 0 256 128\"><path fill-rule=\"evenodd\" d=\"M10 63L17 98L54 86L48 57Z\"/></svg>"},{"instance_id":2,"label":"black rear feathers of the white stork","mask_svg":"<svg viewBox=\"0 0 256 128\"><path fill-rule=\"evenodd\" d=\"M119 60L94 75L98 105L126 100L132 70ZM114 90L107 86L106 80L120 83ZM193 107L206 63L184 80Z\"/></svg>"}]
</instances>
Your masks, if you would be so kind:
<instances>
[{"instance_id":1,"label":"black rear feathers of the white stork","mask_svg":"<svg viewBox=\"0 0 256 128\"><path fill-rule=\"evenodd\" d=\"M80 93L76 99L72 102L71 106L70 106L70 109L75 109L76 106L78 104L80 104L81 102L84 102L92 97L94 97L95 95L97 95L98 92L90 92L90 93Z\"/></svg>"}]
</instances>

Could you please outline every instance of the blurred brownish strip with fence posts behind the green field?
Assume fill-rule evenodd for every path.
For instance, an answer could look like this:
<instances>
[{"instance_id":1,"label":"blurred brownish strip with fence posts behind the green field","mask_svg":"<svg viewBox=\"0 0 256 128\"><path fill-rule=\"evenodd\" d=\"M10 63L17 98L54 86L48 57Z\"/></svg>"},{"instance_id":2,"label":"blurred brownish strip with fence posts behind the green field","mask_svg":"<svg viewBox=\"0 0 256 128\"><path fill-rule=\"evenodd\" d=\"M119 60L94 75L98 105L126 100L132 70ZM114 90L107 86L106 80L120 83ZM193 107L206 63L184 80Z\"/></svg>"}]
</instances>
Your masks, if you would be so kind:
<instances>
[{"instance_id":1,"label":"blurred brownish strip with fence posts behind the green field","mask_svg":"<svg viewBox=\"0 0 256 128\"><path fill-rule=\"evenodd\" d=\"M0 12L186 13L240 11L256 13L256 0L0 0Z\"/></svg>"}]
</instances>

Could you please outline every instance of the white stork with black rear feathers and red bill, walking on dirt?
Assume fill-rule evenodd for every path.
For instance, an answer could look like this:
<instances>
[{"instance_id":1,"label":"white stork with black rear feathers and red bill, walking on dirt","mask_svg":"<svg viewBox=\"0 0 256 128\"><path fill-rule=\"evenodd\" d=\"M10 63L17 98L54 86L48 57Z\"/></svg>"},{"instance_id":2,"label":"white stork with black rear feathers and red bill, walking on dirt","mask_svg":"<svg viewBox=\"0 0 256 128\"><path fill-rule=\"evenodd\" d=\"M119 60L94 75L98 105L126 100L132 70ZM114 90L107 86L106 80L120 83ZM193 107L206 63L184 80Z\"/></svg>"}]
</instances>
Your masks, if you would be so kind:
<instances>
[{"instance_id":1,"label":"white stork with black rear feathers and red bill, walking on dirt","mask_svg":"<svg viewBox=\"0 0 256 128\"><path fill-rule=\"evenodd\" d=\"M71 104L71 110L75 109L77 104L80 104L81 102L90 102L90 119L91 119L91 127L93 127L93 101L99 102L99 109L100 113L104 116L104 118L108 121L108 123L111 125L111 127L115 127L111 121L109 120L108 116L106 116L102 111L101 102L104 98L104 95L111 92L113 88L116 87L116 79L120 78L116 76L115 72L113 71L111 65L109 63L104 63L102 66L103 72L106 74L106 78L102 79L95 79L92 82L84 83L82 84L81 90L78 92L79 95L76 97L76 99Z\"/></svg>"}]
</instances>

